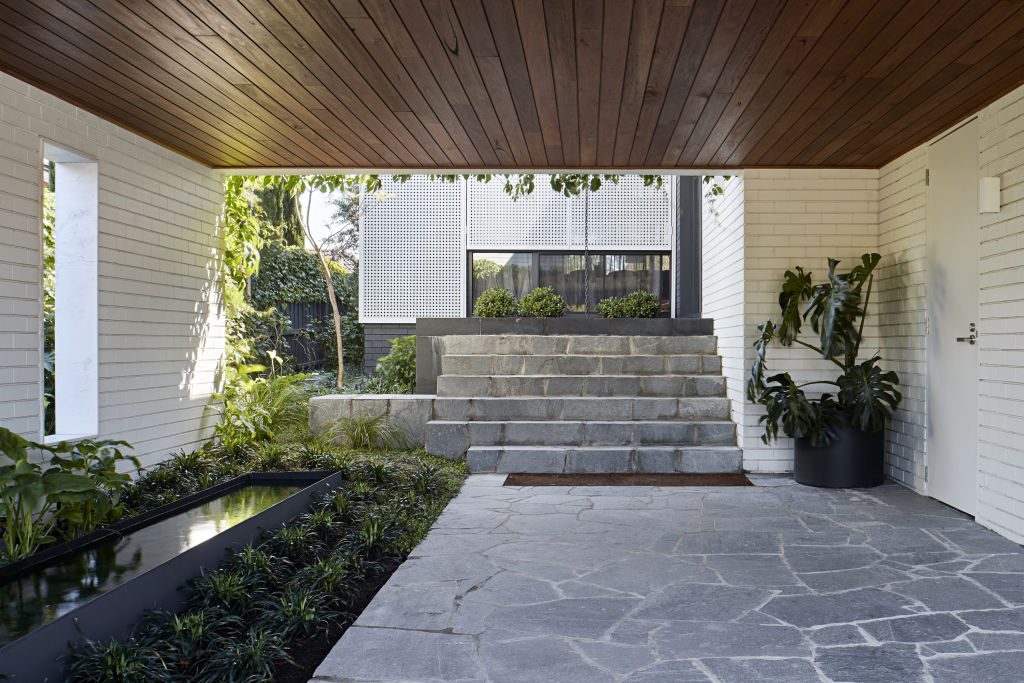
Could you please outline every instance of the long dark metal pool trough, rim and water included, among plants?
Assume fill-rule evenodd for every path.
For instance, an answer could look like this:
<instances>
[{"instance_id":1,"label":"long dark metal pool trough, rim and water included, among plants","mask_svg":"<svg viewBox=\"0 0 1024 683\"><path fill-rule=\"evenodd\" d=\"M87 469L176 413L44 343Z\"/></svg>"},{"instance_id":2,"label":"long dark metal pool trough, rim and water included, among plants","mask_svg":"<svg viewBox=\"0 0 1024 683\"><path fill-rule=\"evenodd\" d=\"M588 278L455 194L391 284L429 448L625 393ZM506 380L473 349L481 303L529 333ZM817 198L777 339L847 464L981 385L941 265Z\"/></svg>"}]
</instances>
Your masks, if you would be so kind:
<instances>
[{"instance_id":1,"label":"long dark metal pool trough, rim and water included, among plants","mask_svg":"<svg viewBox=\"0 0 1024 683\"><path fill-rule=\"evenodd\" d=\"M247 474L0 568L0 673L60 677L57 657L69 643L123 636L146 609L179 608L178 586L216 567L225 550L292 519L340 479Z\"/></svg>"}]
</instances>

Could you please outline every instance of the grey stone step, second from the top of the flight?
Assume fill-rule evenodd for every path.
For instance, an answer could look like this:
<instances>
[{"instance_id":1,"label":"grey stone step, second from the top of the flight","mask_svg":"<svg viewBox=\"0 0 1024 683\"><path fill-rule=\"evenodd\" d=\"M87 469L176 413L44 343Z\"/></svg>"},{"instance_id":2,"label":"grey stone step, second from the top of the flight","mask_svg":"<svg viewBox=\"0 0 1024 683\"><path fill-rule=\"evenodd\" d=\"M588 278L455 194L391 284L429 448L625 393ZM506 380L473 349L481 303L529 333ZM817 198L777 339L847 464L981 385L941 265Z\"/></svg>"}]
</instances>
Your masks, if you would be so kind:
<instances>
[{"instance_id":1,"label":"grey stone step, second from the top of the flight","mask_svg":"<svg viewBox=\"0 0 1024 683\"><path fill-rule=\"evenodd\" d=\"M717 355L570 355L444 353L444 375L718 375Z\"/></svg>"}]
</instances>

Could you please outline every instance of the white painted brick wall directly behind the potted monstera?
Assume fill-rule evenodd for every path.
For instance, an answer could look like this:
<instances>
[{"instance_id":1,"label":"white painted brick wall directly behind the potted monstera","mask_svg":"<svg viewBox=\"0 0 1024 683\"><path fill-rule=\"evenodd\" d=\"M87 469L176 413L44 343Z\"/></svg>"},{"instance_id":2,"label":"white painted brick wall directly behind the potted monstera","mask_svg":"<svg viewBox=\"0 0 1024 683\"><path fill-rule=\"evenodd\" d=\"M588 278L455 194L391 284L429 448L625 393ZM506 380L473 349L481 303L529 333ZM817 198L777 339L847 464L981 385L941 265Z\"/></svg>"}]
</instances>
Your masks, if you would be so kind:
<instances>
[{"instance_id":1,"label":"white painted brick wall directly behind the potted monstera","mask_svg":"<svg viewBox=\"0 0 1024 683\"><path fill-rule=\"evenodd\" d=\"M754 360L758 325L778 318L778 292L785 270L803 266L815 282L828 272L828 258L850 268L860 255L878 249L879 172L876 170L758 169L743 173L744 221L744 366ZM872 296L864 328L862 357L879 348L878 299ZM815 342L807 325L802 338ZM812 351L773 344L768 351L773 373L788 372L798 382L833 380L836 368ZM825 386L825 388L827 388ZM835 391L835 389L833 389ZM749 405L740 426L743 463L755 472L793 469L793 440L761 441L763 414Z\"/></svg>"}]
</instances>

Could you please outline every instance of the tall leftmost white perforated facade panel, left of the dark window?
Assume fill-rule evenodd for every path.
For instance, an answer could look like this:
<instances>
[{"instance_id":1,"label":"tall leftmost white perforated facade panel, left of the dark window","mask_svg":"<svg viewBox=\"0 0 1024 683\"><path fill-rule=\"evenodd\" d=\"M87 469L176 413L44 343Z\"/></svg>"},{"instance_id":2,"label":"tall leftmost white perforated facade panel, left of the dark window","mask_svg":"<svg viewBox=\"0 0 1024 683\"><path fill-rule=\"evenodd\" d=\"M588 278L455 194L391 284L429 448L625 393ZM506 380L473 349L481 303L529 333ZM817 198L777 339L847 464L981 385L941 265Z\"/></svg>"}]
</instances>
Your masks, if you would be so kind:
<instances>
[{"instance_id":1,"label":"tall leftmost white perforated facade panel, left of the dark window","mask_svg":"<svg viewBox=\"0 0 1024 683\"><path fill-rule=\"evenodd\" d=\"M466 314L465 184L413 176L365 195L359 229L359 322L411 323Z\"/></svg>"}]
</instances>

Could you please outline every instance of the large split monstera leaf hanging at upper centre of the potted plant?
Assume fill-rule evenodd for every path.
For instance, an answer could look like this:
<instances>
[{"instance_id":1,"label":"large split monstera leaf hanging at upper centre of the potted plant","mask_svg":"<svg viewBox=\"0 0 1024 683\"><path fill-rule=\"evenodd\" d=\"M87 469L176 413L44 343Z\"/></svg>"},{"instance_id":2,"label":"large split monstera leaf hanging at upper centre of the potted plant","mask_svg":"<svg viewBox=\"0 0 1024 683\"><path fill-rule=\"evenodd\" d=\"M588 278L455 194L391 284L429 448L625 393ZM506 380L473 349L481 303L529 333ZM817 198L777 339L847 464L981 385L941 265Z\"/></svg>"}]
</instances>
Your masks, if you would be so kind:
<instances>
[{"instance_id":1,"label":"large split monstera leaf hanging at upper centre of the potted plant","mask_svg":"<svg viewBox=\"0 0 1024 683\"><path fill-rule=\"evenodd\" d=\"M850 274L839 274L839 261L828 259L828 282L817 285L811 303L804 312L810 316L811 328L821 337L821 351L826 358L846 358L860 342L857 321L863 315L860 307L860 285Z\"/></svg>"}]
</instances>

